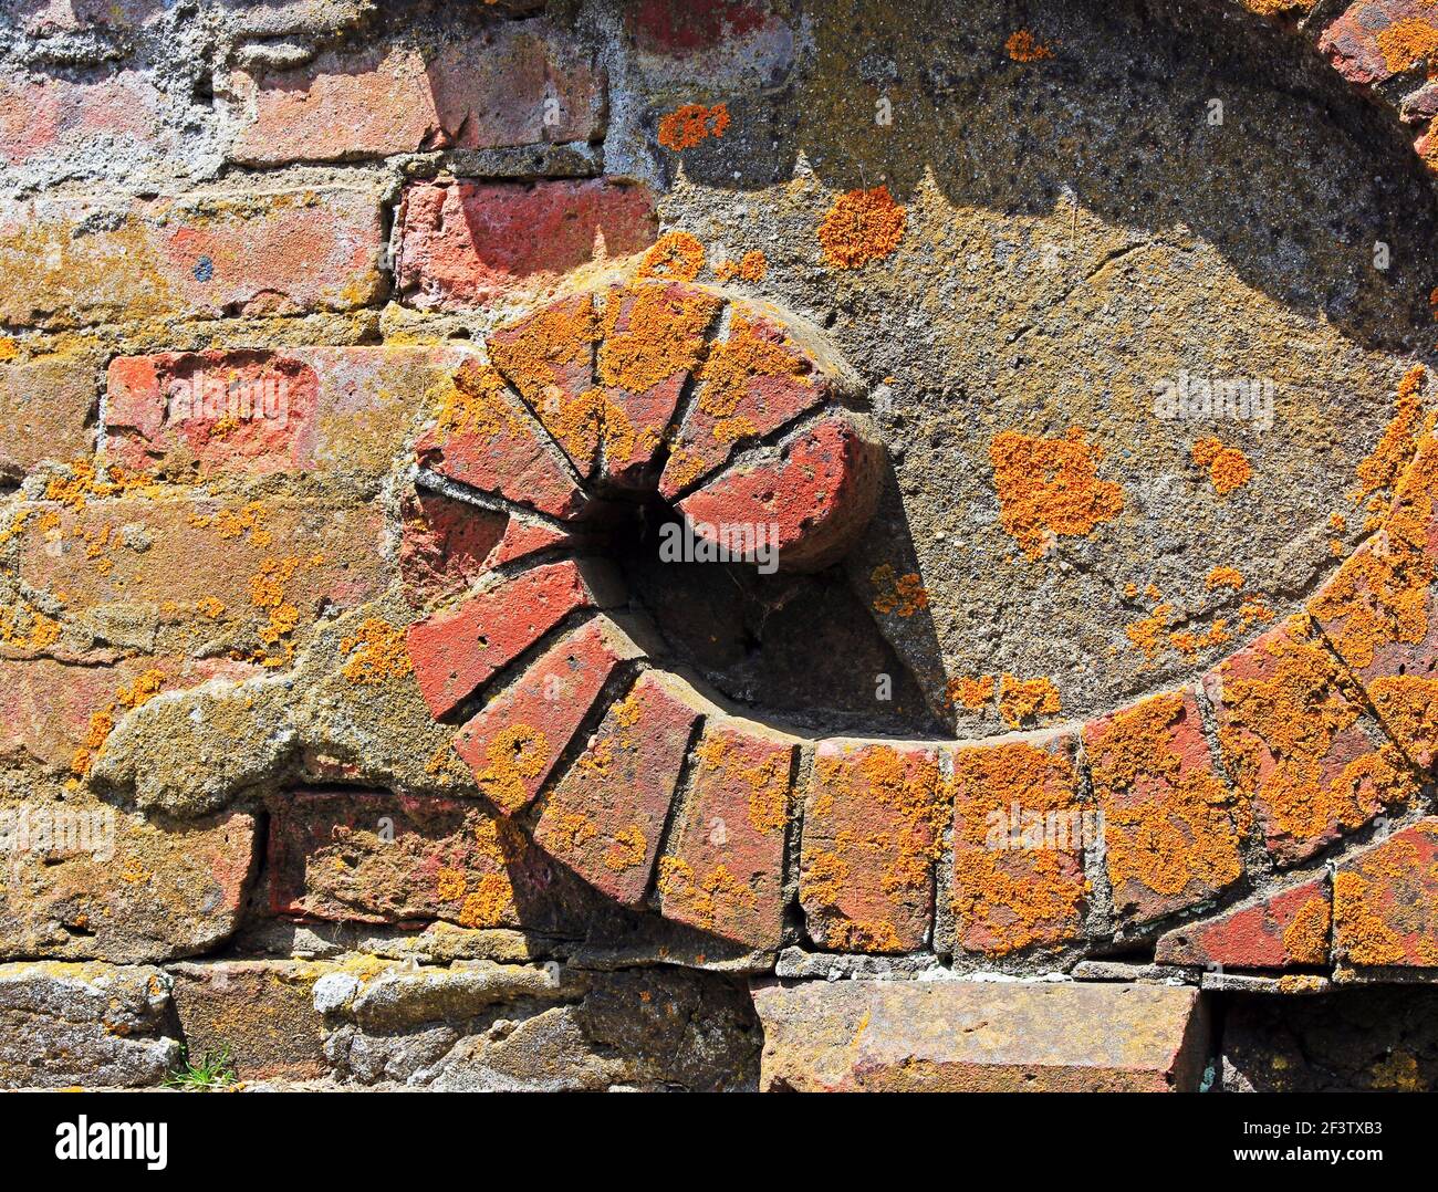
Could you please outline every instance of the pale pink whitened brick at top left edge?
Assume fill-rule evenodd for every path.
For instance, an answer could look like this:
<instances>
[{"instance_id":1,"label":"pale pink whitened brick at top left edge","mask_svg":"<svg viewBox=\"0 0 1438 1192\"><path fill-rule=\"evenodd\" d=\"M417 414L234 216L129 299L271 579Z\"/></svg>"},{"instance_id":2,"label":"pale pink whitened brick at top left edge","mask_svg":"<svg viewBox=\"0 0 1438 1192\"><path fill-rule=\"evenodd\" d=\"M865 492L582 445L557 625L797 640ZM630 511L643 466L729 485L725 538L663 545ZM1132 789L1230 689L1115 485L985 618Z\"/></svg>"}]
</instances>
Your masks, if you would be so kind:
<instances>
[{"instance_id":1,"label":"pale pink whitened brick at top left edge","mask_svg":"<svg viewBox=\"0 0 1438 1192\"><path fill-rule=\"evenodd\" d=\"M164 92L138 70L85 82L0 76L0 160L35 170L106 144L170 154L178 144L164 116Z\"/></svg>"}]
</instances>

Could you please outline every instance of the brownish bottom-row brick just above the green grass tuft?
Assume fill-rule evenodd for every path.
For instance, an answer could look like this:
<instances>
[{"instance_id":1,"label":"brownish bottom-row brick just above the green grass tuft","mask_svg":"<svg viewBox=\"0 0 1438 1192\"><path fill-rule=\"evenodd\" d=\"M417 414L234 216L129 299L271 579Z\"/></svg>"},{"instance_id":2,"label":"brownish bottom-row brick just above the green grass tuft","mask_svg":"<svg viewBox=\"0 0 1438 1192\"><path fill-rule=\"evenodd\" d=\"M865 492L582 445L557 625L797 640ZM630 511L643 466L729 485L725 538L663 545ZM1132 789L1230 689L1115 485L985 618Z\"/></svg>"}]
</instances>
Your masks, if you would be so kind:
<instances>
[{"instance_id":1,"label":"brownish bottom-row brick just above the green grass tuft","mask_svg":"<svg viewBox=\"0 0 1438 1192\"><path fill-rule=\"evenodd\" d=\"M325 1017L315 982L336 965L309 961L206 961L174 965L171 999L193 1060L227 1053L234 1076L318 1080L325 1061Z\"/></svg>"}]
</instances>

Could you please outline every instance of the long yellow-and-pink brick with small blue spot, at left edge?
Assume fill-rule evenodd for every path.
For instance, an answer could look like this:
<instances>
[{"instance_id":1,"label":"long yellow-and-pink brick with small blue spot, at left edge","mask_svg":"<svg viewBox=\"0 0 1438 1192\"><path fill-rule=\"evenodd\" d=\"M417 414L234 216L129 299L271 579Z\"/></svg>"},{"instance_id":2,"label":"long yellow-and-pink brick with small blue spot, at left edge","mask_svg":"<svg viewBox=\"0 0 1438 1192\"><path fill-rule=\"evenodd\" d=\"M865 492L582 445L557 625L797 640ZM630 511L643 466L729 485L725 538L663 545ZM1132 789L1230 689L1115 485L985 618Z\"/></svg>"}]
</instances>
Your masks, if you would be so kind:
<instances>
[{"instance_id":1,"label":"long yellow-and-pink brick with small blue spot, at left edge","mask_svg":"<svg viewBox=\"0 0 1438 1192\"><path fill-rule=\"evenodd\" d=\"M380 296L380 196L362 187L0 206L0 321L348 311Z\"/></svg>"}]
</instances>

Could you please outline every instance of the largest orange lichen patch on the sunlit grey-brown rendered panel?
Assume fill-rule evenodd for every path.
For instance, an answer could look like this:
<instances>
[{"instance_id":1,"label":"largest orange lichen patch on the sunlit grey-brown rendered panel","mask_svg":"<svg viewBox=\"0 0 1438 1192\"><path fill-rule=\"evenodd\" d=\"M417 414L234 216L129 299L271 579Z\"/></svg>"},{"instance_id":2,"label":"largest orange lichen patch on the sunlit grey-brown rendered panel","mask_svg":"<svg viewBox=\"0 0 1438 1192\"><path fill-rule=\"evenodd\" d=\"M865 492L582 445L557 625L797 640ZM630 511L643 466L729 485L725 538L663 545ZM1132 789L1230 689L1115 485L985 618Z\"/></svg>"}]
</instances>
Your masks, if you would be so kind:
<instances>
[{"instance_id":1,"label":"largest orange lichen patch on the sunlit grey-brown rendered panel","mask_svg":"<svg viewBox=\"0 0 1438 1192\"><path fill-rule=\"evenodd\" d=\"M1005 430L989 444L1004 529L1030 559L1043 558L1057 535L1086 538L1123 512L1123 489L1099 479L1102 457L1078 427L1063 439Z\"/></svg>"}]
</instances>

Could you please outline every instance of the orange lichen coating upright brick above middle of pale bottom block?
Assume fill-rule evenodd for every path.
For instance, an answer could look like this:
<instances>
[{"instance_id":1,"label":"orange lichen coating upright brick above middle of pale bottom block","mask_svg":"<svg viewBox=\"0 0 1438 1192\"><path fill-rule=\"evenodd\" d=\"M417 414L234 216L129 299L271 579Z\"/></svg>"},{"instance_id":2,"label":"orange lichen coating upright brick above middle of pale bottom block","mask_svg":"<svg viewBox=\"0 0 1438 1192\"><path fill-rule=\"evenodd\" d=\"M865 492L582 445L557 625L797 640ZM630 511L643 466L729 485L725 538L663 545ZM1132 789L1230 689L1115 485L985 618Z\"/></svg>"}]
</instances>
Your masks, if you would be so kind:
<instances>
[{"instance_id":1,"label":"orange lichen coating upright brick above middle of pale bottom block","mask_svg":"<svg viewBox=\"0 0 1438 1192\"><path fill-rule=\"evenodd\" d=\"M1068 761L1032 745L961 749L953 758L952 904L966 948L1002 956L1073 939L1081 927L1084 874L1071 850L992 847L995 817L1077 811Z\"/></svg>"}]
</instances>

